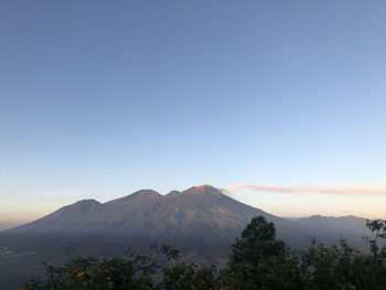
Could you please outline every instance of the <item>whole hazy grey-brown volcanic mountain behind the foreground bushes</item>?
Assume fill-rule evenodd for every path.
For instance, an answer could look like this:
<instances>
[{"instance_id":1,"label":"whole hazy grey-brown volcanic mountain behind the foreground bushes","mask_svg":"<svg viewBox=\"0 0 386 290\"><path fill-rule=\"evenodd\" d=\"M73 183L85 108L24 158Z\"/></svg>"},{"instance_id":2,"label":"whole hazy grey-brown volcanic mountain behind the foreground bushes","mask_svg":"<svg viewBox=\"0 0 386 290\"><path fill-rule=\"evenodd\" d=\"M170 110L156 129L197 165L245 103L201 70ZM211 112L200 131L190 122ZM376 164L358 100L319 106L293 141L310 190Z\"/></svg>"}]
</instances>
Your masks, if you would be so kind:
<instances>
[{"instance_id":1,"label":"whole hazy grey-brown volcanic mountain behind the foreground bushes","mask_svg":"<svg viewBox=\"0 0 386 290\"><path fill-rule=\"evenodd\" d=\"M313 235L330 243L342 233L351 237L364 233L362 219L313 216L293 222L237 202L211 185L167 195L140 190L104 204L79 201L1 232L0 280L15 283L33 273L40 261L61 264L68 253L119 255L128 248L147 250L156 241L182 250L190 259L216 262L227 257L229 245L259 215L272 221L278 238L292 248L302 248Z\"/></svg>"}]
</instances>

